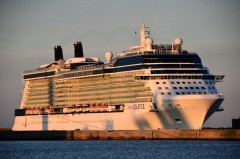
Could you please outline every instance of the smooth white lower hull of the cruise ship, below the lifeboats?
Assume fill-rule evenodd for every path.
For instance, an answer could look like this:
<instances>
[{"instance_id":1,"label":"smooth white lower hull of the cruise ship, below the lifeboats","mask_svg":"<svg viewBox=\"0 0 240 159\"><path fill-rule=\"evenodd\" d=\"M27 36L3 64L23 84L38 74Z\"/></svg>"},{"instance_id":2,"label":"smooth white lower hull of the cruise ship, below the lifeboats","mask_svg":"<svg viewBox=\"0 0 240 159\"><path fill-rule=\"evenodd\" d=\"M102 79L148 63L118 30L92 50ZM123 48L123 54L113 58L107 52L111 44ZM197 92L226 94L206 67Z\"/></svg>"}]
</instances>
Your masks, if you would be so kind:
<instances>
[{"instance_id":1,"label":"smooth white lower hull of the cruise ship, below the lifeboats","mask_svg":"<svg viewBox=\"0 0 240 159\"><path fill-rule=\"evenodd\" d=\"M158 101L157 109L151 109L152 103L128 103L124 112L16 116L13 130L201 129L210 108L216 111L223 100L219 95L187 97L162 100L171 107L160 107Z\"/></svg>"}]
</instances>

